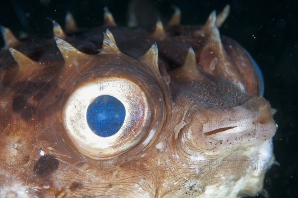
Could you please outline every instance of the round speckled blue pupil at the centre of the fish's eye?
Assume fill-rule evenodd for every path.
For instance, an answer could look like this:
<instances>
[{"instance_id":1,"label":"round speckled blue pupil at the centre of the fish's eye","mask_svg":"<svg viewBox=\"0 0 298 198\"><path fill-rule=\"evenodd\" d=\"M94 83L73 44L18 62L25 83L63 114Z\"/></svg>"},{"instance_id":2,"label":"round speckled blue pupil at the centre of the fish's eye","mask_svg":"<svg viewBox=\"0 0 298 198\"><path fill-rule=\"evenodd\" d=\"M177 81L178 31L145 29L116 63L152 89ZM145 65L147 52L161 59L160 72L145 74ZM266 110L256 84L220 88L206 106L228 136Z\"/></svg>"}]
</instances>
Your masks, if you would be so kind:
<instances>
[{"instance_id":1,"label":"round speckled blue pupil at the centre of the fish's eye","mask_svg":"<svg viewBox=\"0 0 298 198\"><path fill-rule=\"evenodd\" d=\"M109 137L119 131L123 125L125 113L125 107L119 99L102 95L89 104L87 123L96 135Z\"/></svg>"}]
</instances>

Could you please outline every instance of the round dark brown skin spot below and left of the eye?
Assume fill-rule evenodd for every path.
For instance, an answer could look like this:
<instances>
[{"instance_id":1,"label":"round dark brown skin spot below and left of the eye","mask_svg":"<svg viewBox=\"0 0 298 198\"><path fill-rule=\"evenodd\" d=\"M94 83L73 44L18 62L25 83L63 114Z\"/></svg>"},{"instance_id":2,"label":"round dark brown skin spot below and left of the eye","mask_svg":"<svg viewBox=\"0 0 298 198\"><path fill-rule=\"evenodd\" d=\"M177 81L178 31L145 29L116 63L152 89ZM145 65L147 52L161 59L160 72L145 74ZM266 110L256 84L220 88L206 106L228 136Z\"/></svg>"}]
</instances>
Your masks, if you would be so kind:
<instances>
[{"instance_id":1,"label":"round dark brown skin spot below and left of the eye","mask_svg":"<svg viewBox=\"0 0 298 198\"><path fill-rule=\"evenodd\" d=\"M58 166L59 160L51 155L45 155L37 161L34 173L40 176L49 176L58 169Z\"/></svg>"}]
</instances>

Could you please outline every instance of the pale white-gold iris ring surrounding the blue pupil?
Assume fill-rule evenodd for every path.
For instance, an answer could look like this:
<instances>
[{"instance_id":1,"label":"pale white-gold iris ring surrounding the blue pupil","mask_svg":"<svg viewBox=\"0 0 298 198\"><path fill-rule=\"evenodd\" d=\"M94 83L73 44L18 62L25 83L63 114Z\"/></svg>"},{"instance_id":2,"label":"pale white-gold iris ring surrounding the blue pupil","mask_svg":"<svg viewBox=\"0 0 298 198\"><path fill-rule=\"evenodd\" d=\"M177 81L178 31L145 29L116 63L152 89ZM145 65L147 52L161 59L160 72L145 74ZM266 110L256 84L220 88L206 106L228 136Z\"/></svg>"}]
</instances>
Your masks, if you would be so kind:
<instances>
[{"instance_id":1,"label":"pale white-gold iris ring surrounding the blue pupil","mask_svg":"<svg viewBox=\"0 0 298 198\"><path fill-rule=\"evenodd\" d=\"M102 95L119 99L126 110L124 124L117 133L109 137L96 135L87 123L89 104ZM143 128L142 125L146 126L148 116L148 101L141 87L122 78L101 78L78 88L70 96L64 109L68 134L80 151L96 159L120 155L136 145L142 137L140 129Z\"/></svg>"}]
</instances>

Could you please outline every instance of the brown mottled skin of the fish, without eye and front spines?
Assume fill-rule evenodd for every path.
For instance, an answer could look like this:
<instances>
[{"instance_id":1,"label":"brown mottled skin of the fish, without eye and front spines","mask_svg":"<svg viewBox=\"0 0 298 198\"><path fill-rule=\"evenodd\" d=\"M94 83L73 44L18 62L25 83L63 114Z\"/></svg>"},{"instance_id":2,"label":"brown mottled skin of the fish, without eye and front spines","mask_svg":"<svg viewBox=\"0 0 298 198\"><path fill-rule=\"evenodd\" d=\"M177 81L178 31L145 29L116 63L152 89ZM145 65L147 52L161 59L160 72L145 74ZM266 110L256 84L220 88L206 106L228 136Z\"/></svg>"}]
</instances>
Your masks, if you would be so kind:
<instances>
[{"instance_id":1,"label":"brown mottled skin of the fish, without eye and front spines","mask_svg":"<svg viewBox=\"0 0 298 198\"><path fill-rule=\"evenodd\" d=\"M69 33L63 40L91 55L78 56L72 67L65 65L54 38L28 38L12 46L40 67L20 69L8 48L1 50L1 195L161 198L260 192L274 160L272 150L262 150L276 131L272 110L254 86L259 78L247 52L224 36L219 47L213 38L217 32L206 26L167 26L166 37L153 36L154 28L109 27L123 53L101 52L106 27ZM139 59L154 42L159 71L147 65L153 55ZM186 58L190 47L195 54ZM66 62L74 59L71 55ZM191 57L197 66L190 70ZM144 91L149 126L122 154L93 159L70 138L65 105L82 85L115 76L151 85ZM246 82L246 92L239 82ZM231 124L243 120L257 130L231 132ZM217 125L222 121L228 125ZM262 152L269 153L264 170Z\"/></svg>"}]
</instances>

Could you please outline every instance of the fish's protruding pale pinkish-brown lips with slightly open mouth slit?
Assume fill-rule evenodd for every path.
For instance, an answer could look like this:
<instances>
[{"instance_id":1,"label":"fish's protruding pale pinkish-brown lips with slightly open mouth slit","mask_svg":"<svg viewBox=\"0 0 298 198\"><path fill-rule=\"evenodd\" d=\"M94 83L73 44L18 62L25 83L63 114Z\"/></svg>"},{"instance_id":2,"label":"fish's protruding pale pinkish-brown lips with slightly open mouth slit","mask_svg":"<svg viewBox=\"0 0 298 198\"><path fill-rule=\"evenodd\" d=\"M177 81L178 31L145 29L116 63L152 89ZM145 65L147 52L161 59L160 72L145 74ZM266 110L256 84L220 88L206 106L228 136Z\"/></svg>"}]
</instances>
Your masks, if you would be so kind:
<instances>
[{"instance_id":1,"label":"fish's protruding pale pinkish-brown lips with slightly open mouth slit","mask_svg":"<svg viewBox=\"0 0 298 198\"><path fill-rule=\"evenodd\" d=\"M274 110L262 97L251 97L238 106L197 111L183 128L191 147L212 151L252 147L270 140L277 129Z\"/></svg>"}]
</instances>

